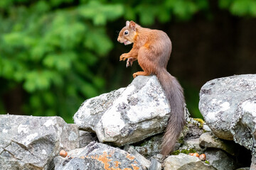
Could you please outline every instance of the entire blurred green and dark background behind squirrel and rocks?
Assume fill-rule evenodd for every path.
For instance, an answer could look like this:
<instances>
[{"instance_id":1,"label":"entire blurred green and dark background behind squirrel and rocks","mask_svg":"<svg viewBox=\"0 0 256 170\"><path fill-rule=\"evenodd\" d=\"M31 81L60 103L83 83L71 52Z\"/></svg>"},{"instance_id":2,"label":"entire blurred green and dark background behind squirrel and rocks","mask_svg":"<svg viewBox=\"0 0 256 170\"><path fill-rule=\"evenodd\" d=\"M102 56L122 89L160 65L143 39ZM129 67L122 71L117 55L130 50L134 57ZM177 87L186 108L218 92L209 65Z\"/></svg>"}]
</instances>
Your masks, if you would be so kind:
<instances>
[{"instance_id":1,"label":"entire blurred green and dark background behind squirrel and rocks","mask_svg":"<svg viewBox=\"0 0 256 170\"><path fill-rule=\"evenodd\" d=\"M210 79L255 73L255 0L1 0L0 113L73 115L87 98L127 86L138 64L119 56L125 21L164 30L173 42L169 72L188 110Z\"/></svg>"}]
</instances>

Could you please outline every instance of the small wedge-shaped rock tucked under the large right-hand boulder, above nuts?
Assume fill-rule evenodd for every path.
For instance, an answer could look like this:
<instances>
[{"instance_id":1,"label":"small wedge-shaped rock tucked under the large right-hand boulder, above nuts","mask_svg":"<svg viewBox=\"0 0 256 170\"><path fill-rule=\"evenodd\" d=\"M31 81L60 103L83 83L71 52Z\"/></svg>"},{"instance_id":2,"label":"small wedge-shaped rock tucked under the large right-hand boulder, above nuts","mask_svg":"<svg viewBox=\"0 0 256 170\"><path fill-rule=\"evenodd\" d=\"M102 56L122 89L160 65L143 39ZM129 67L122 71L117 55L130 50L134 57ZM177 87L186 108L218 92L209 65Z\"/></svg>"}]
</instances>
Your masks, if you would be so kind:
<instances>
[{"instance_id":1,"label":"small wedge-shaped rock tucked under the large right-hand boulder, above nuts","mask_svg":"<svg viewBox=\"0 0 256 170\"><path fill-rule=\"evenodd\" d=\"M211 132L206 132L199 137L199 145L202 147L210 147L215 149L222 149L228 154L235 156L235 151L237 147L240 147L238 144L235 144L233 141L223 141L220 140L218 137L215 137Z\"/></svg>"}]
</instances>

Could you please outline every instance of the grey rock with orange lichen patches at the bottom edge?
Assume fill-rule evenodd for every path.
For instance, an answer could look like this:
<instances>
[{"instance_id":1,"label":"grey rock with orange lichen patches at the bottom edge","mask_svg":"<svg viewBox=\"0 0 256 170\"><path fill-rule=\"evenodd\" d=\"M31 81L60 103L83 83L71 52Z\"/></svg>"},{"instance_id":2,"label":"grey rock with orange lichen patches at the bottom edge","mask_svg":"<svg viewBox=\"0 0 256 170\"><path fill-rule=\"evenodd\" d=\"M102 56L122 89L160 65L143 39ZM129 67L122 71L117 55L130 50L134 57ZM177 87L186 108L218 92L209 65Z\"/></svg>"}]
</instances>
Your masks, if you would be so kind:
<instances>
[{"instance_id":1,"label":"grey rock with orange lichen patches at the bottom edge","mask_svg":"<svg viewBox=\"0 0 256 170\"><path fill-rule=\"evenodd\" d=\"M55 157L54 164L55 170L146 170L134 155L96 142L91 142L87 147L70 151L65 159L63 157Z\"/></svg>"}]
</instances>

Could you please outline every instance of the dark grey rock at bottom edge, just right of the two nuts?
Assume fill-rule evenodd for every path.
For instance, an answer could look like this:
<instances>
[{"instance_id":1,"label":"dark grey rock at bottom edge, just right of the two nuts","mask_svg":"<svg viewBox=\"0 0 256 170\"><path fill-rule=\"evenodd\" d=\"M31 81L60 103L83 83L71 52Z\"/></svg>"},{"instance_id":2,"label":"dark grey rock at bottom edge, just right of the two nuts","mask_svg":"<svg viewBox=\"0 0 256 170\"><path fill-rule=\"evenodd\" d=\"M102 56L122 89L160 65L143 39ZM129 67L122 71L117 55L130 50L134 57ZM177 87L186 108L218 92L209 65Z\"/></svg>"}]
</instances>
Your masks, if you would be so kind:
<instances>
[{"instance_id":1,"label":"dark grey rock at bottom edge, just right of the two nuts","mask_svg":"<svg viewBox=\"0 0 256 170\"><path fill-rule=\"evenodd\" d=\"M235 160L226 152L220 149L207 149L205 151L206 159L218 170L237 169L238 165Z\"/></svg>"}]
</instances>

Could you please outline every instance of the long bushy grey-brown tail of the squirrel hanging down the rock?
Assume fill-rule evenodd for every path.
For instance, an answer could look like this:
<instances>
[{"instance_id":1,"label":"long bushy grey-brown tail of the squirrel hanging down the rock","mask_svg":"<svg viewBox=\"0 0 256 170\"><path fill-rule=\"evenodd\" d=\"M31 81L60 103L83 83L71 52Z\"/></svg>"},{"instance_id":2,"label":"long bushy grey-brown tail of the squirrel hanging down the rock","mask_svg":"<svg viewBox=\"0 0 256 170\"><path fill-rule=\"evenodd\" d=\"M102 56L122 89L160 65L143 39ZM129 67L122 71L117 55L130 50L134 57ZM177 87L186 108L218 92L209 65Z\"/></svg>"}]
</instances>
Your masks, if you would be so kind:
<instances>
[{"instance_id":1,"label":"long bushy grey-brown tail of the squirrel hanging down the rock","mask_svg":"<svg viewBox=\"0 0 256 170\"><path fill-rule=\"evenodd\" d=\"M176 141L183 130L183 126L185 125L185 99L181 85L175 77L171 76L171 74L166 71L166 69L160 69L156 73L156 77L159 79L161 86L166 92L166 98L168 99L171 107L169 123L161 146L161 154L166 156L174 150Z\"/></svg>"}]
</instances>

